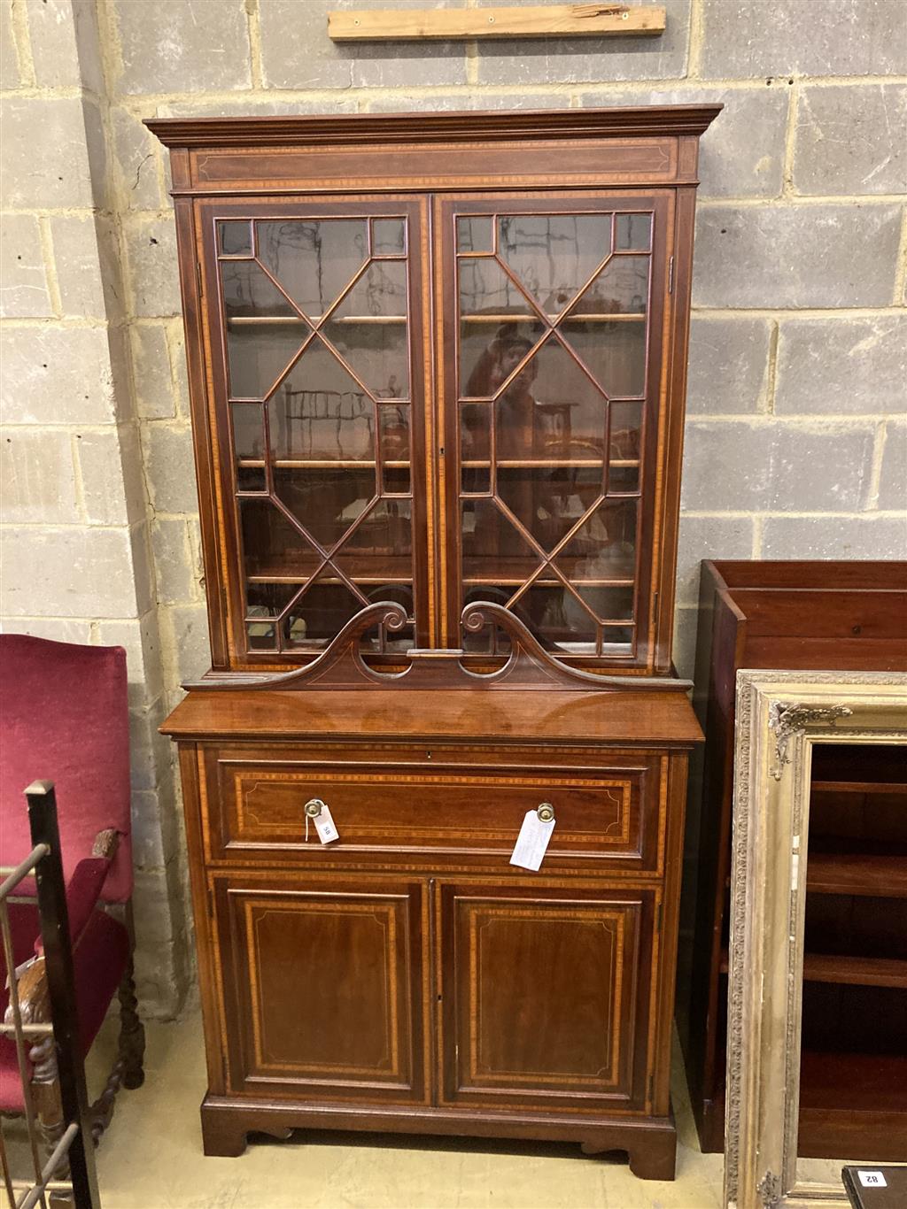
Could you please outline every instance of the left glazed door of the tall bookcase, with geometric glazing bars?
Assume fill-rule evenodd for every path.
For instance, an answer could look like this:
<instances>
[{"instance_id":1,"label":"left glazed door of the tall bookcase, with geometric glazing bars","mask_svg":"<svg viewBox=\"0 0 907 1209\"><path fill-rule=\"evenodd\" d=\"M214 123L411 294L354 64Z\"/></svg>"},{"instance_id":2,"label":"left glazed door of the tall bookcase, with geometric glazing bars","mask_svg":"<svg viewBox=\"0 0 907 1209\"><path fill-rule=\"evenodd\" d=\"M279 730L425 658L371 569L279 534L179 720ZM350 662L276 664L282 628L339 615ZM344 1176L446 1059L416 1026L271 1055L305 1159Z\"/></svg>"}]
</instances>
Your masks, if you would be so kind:
<instances>
[{"instance_id":1,"label":"left glazed door of the tall bookcase, with geometric glazing bars","mask_svg":"<svg viewBox=\"0 0 907 1209\"><path fill-rule=\"evenodd\" d=\"M429 636L426 202L198 203L233 666L307 660L366 604Z\"/></svg>"}]
</instances>

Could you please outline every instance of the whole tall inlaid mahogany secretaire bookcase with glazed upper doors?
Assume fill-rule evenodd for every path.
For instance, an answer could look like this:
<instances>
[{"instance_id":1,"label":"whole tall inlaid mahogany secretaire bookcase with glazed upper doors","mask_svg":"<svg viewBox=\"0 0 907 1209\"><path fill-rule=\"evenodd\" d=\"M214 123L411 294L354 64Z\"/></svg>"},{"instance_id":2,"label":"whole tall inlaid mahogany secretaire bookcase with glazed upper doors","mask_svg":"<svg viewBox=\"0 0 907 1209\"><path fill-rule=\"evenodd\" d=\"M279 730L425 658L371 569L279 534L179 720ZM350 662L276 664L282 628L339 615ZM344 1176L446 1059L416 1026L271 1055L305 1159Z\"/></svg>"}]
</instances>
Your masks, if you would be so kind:
<instances>
[{"instance_id":1,"label":"whole tall inlaid mahogany secretaire bookcase with glazed upper doors","mask_svg":"<svg viewBox=\"0 0 907 1209\"><path fill-rule=\"evenodd\" d=\"M149 122L212 644L164 727L208 1153L394 1129L674 1173L700 730L670 637L716 112Z\"/></svg>"}]
</instances>

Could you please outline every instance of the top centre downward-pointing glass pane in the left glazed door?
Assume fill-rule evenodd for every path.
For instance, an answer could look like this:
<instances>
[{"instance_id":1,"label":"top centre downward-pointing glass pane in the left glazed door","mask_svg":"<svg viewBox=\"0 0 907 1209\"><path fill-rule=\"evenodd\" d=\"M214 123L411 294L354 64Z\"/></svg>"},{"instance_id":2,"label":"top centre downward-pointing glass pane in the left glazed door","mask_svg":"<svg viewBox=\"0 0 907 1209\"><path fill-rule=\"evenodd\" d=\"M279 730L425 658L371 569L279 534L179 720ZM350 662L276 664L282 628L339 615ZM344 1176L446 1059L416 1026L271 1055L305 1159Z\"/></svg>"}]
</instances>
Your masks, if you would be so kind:
<instances>
[{"instance_id":1,"label":"top centre downward-pointing glass pane in the left glazed door","mask_svg":"<svg viewBox=\"0 0 907 1209\"><path fill-rule=\"evenodd\" d=\"M258 258L296 306L320 317L368 259L368 219L256 222Z\"/></svg>"}]
</instances>

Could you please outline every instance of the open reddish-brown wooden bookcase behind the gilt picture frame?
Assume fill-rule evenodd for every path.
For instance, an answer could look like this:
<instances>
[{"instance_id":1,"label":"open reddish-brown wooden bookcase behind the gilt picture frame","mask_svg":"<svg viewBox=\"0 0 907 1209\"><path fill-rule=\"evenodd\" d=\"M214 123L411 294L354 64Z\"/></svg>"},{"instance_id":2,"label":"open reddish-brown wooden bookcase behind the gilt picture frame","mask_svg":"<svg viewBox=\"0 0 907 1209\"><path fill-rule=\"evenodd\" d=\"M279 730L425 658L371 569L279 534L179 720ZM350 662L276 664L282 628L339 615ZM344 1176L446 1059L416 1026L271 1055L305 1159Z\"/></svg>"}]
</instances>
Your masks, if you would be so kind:
<instances>
[{"instance_id":1,"label":"open reddish-brown wooden bookcase behind the gilt picture frame","mask_svg":"<svg viewBox=\"0 0 907 1209\"><path fill-rule=\"evenodd\" d=\"M678 1002L704 1150L723 1149L727 895L736 671L907 670L907 563L704 562L691 775L699 820L689 1001ZM907 1153L907 748L819 747L804 936L799 1150Z\"/></svg>"}]
</instances>

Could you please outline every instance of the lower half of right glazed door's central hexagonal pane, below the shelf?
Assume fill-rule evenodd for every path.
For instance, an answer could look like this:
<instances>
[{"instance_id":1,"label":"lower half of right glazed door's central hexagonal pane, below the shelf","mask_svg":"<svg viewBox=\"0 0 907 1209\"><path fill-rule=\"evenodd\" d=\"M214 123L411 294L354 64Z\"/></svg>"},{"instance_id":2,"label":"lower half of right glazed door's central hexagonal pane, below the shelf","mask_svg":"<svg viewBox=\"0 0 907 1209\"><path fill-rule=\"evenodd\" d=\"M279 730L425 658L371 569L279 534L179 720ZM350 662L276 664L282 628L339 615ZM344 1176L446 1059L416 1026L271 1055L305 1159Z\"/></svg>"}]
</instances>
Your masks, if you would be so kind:
<instances>
[{"instance_id":1,"label":"lower half of right glazed door's central hexagonal pane, below the shelf","mask_svg":"<svg viewBox=\"0 0 907 1209\"><path fill-rule=\"evenodd\" d=\"M547 553L601 496L601 468L504 469L497 496Z\"/></svg>"}]
</instances>

